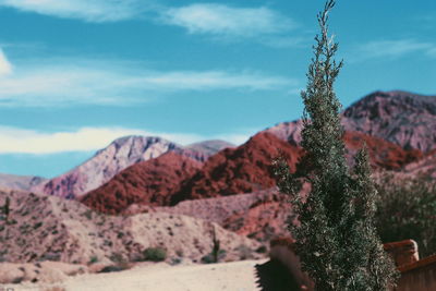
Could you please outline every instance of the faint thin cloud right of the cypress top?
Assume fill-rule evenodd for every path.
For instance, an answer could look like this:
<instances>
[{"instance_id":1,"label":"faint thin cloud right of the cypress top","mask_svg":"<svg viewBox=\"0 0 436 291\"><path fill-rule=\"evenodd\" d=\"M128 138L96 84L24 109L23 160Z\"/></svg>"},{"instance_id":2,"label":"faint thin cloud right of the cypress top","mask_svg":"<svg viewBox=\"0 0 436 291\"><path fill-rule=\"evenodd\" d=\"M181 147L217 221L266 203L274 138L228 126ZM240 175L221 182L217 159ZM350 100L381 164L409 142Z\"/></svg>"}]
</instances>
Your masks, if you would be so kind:
<instances>
[{"instance_id":1,"label":"faint thin cloud right of the cypress top","mask_svg":"<svg viewBox=\"0 0 436 291\"><path fill-rule=\"evenodd\" d=\"M358 62L379 58L397 59L413 52L433 57L435 49L435 44L415 39L375 40L355 46L353 53L350 53L350 60Z\"/></svg>"}]
</instances>

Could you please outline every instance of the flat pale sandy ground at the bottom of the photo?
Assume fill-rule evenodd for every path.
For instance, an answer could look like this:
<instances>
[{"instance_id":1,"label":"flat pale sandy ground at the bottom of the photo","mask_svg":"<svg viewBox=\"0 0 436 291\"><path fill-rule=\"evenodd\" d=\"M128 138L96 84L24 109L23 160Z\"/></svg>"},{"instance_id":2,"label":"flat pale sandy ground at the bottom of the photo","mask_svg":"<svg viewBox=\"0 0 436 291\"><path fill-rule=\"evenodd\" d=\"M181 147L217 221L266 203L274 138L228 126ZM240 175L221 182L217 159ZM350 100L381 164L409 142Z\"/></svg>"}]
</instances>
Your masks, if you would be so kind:
<instances>
[{"instance_id":1,"label":"flat pale sandy ground at the bottom of the photo","mask_svg":"<svg viewBox=\"0 0 436 291\"><path fill-rule=\"evenodd\" d=\"M261 289L256 286L254 266L265 262L267 259L172 267L162 263L121 272L71 277L58 284L59 289L32 284L10 287L11 291L255 291Z\"/></svg>"}]
</instances>

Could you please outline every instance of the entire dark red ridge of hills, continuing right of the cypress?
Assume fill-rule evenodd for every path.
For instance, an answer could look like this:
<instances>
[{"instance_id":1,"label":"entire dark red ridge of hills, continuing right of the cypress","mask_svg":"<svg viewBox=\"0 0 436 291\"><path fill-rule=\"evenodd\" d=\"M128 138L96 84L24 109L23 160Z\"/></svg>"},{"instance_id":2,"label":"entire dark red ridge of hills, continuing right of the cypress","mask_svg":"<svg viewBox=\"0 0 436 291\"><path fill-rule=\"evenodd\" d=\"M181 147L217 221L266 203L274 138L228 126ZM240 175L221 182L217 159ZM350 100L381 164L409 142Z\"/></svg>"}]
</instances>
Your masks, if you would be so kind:
<instances>
[{"instance_id":1,"label":"entire dark red ridge of hills, continuing right of the cypress","mask_svg":"<svg viewBox=\"0 0 436 291\"><path fill-rule=\"evenodd\" d=\"M360 132L346 132L347 158L366 144L374 168L398 170L422 157L420 150L400 146ZM84 195L81 201L106 214L120 214L130 205L167 206L186 199L251 193L272 187L271 160L280 155L291 170L303 150L274 134L264 132L237 148L226 148L203 167L191 158L168 153L131 166L108 183Z\"/></svg>"}]
</instances>

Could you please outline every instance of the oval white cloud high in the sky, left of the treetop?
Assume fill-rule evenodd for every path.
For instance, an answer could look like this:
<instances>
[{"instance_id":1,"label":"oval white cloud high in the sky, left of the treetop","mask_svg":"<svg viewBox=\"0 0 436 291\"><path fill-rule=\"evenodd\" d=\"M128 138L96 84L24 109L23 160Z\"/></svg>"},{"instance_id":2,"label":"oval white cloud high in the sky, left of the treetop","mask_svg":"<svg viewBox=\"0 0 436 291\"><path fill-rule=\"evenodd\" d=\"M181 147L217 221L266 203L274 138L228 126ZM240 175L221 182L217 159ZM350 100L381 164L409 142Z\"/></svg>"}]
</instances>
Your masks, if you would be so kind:
<instances>
[{"instance_id":1,"label":"oval white cloud high in the sky, left of the treetop","mask_svg":"<svg viewBox=\"0 0 436 291\"><path fill-rule=\"evenodd\" d=\"M162 22L191 34L253 37L274 35L295 27L295 23L268 8L232 8L198 3L168 9Z\"/></svg>"}]
</instances>

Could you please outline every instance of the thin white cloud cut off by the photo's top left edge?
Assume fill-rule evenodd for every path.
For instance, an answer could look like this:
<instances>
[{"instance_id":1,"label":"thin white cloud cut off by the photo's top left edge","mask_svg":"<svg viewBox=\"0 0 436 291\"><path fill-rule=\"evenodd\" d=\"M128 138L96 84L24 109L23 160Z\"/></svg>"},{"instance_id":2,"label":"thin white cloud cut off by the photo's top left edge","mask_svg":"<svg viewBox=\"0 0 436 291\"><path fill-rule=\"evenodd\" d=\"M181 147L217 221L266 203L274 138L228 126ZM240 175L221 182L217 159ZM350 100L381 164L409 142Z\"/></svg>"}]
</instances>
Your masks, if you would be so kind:
<instances>
[{"instance_id":1,"label":"thin white cloud cut off by the photo's top left edge","mask_svg":"<svg viewBox=\"0 0 436 291\"><path fill-rule=\"evenodd\" d=\"M149 2L137 0L0 0L0 5L63 19L114 22L141 15Z\"/></svg>"}]
</instances>

